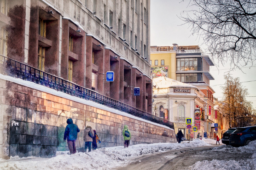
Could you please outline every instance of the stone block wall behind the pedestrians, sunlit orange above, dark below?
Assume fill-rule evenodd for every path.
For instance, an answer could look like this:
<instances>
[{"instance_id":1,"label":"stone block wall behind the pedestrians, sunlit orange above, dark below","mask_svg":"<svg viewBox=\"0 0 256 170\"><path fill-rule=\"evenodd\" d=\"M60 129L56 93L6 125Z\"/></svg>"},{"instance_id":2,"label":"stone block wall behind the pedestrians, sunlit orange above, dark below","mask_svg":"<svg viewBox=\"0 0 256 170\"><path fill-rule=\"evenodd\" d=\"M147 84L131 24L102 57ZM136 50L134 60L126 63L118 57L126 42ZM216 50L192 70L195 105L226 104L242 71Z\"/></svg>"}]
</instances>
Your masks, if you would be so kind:
<instances>
[{"instance_id":1,"label":"stone block wall behind the pedestrians, sunlit orange above, dark below","mask_svg":"<svg viewBox=\"0 0 256 170\"><path fill-rule=\"evenodd\" d=\"M63 142L68 118L80 129L81 145L84 128L88 125L100 137L98 148L123 145L124 125L131 131L131 145L176 141L173 130L1 79L0 106L3 113L0 116L0 158L4 157L6 148L9 156L20 157L50 156L58 150L68 150L67 143ZM4 128L7 133L3 133Z\"/></svg>"}]
</instances>

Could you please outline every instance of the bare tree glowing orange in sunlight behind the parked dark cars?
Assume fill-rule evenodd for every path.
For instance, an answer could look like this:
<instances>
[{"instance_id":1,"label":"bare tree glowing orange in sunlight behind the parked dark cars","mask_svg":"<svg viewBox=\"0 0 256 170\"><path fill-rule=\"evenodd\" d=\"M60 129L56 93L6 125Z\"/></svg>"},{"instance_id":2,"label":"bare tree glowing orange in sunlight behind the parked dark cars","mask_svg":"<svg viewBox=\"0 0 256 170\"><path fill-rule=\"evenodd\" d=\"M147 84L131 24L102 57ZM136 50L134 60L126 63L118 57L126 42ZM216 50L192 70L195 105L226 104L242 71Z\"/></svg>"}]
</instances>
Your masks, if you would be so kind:
<instances>
[{"instance_id":1,"label":"bare tree glowing orange in sunlight behind the parked dark cars","mask_svg":"<svg viewBox=\"0 0 256 170\"><path fill-rule=\"evenodd\" d=\"M219 102L220 112L229 127L244 127L253 124L255 110L250 102L246 100L247 89L242 87L239 78L232 77L230 74L224 76L226 82L222 87L224 100Z\"/></svg>"}]
</instances>

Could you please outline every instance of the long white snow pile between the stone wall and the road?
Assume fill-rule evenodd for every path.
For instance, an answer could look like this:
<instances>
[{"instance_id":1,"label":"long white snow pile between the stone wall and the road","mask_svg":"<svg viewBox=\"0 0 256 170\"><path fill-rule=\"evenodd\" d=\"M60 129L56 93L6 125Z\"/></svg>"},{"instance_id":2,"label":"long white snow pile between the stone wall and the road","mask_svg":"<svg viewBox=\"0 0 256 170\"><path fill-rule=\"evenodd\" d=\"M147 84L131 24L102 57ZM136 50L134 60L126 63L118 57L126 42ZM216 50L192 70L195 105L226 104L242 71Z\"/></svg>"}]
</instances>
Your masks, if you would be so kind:
<instances>
[{"instance_id":1,"label":"long white snow pile between the stone wall and the road","mask_svg":"<svg viewBox=\"0 0 256 170\"><path fill-rule=\"evenodd\" d=\"M89 153L68 155L57 152L52 158L27 157L8 161L0 160L0 169L113 169L134 161L138 156L166 152L172 149L210 145L200 139L182 143L153 143L100 148Z\"/></svg>"}]
</instances>

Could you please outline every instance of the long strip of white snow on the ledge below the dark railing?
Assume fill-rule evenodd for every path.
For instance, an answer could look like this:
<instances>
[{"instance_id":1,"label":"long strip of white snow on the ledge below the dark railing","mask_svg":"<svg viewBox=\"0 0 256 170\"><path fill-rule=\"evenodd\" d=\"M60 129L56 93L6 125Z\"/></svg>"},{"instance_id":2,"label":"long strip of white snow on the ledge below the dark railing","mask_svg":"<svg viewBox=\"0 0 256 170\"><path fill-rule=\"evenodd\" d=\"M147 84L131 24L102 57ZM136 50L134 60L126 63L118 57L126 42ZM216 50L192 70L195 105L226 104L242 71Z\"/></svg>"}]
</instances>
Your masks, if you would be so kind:
<instances>
[{"instance_id":1,"label":"long strip of white snow on the ledge below the dark railing","mask_svg":"<svg viewBox=\"0 0 256 170\"><path fill-rule=\"evenodd\" d=\"M129 118L132 118L132 119L139 120L141 122L146 122L146 123L149 123L149 124L152 124L152 125L160 126L162 128L166 128L166 129L174 131L174 129L171 129L168 126L161 125L161 124L154 123L154 122L150 122L149 120L145 120L145 119L133 116L131 114L128 114L128 113L125 113L125 112L122 112L122 111L119 111L119 110L115 110L114 108L110 108L110 107L98 104L96 102L93 102L93 101L81 99L81 98L76 97L76 96L71 96L69 94L51 89L49 87L45 87L45 86L42 86L40 84L36 84L34 82L25 81L25 80L22 80L20 78L14 78L14 77L6 76L6 75L3 75L3 74L0 74L0 79L10 81L10 82L14 82L14 83L20 84L22 86L26 86L26 87L30 87L30 88L33 88L33 89L36 89L36 90L40 90L42 92L49 93L49 94L52 94L52 95L55 95L55 96L58 96L58 97L61 97L61 98L65 98L65 99L68 99L68 100L79 102L79 103L82 103L84 105L96 107L96 108L99 108L99 109L102 109L102 110L105 110L105 111L108 111L108 112L119 114L121 116L129 117Z\"/></svg>"}]
</instances>

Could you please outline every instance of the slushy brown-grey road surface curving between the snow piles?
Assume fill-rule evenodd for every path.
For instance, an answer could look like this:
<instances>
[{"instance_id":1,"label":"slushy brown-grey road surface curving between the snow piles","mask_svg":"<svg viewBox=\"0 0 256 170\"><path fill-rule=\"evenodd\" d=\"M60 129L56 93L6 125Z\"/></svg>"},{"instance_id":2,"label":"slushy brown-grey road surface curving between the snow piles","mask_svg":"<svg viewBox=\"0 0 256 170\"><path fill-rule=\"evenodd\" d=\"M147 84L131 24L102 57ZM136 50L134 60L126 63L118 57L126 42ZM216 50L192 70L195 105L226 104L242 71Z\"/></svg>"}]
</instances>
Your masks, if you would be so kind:
<instances>
[{"instance_id":1,"label":"slushy brown-grey road surface curving between the snow piles","mask_svg":"<svg viewBox=\"0 0 256 170\"><path fill-rule=\"evenodd\" d=\"M190 169L189 166L193 165L197 161L213 159L216 160L246 160L251 159L252 153L247 154L230 154L229 152L213 151L212 148L216 145L194 147L194 148L182 148L177 150L170 150L165 153L152 154L148 156L142 156L135 159L135 162L130 163L125 167L118 167L116 170L148 170L148 169ZM139 162L140 161L140 162Z\"/></svg>"}]
</instances>

